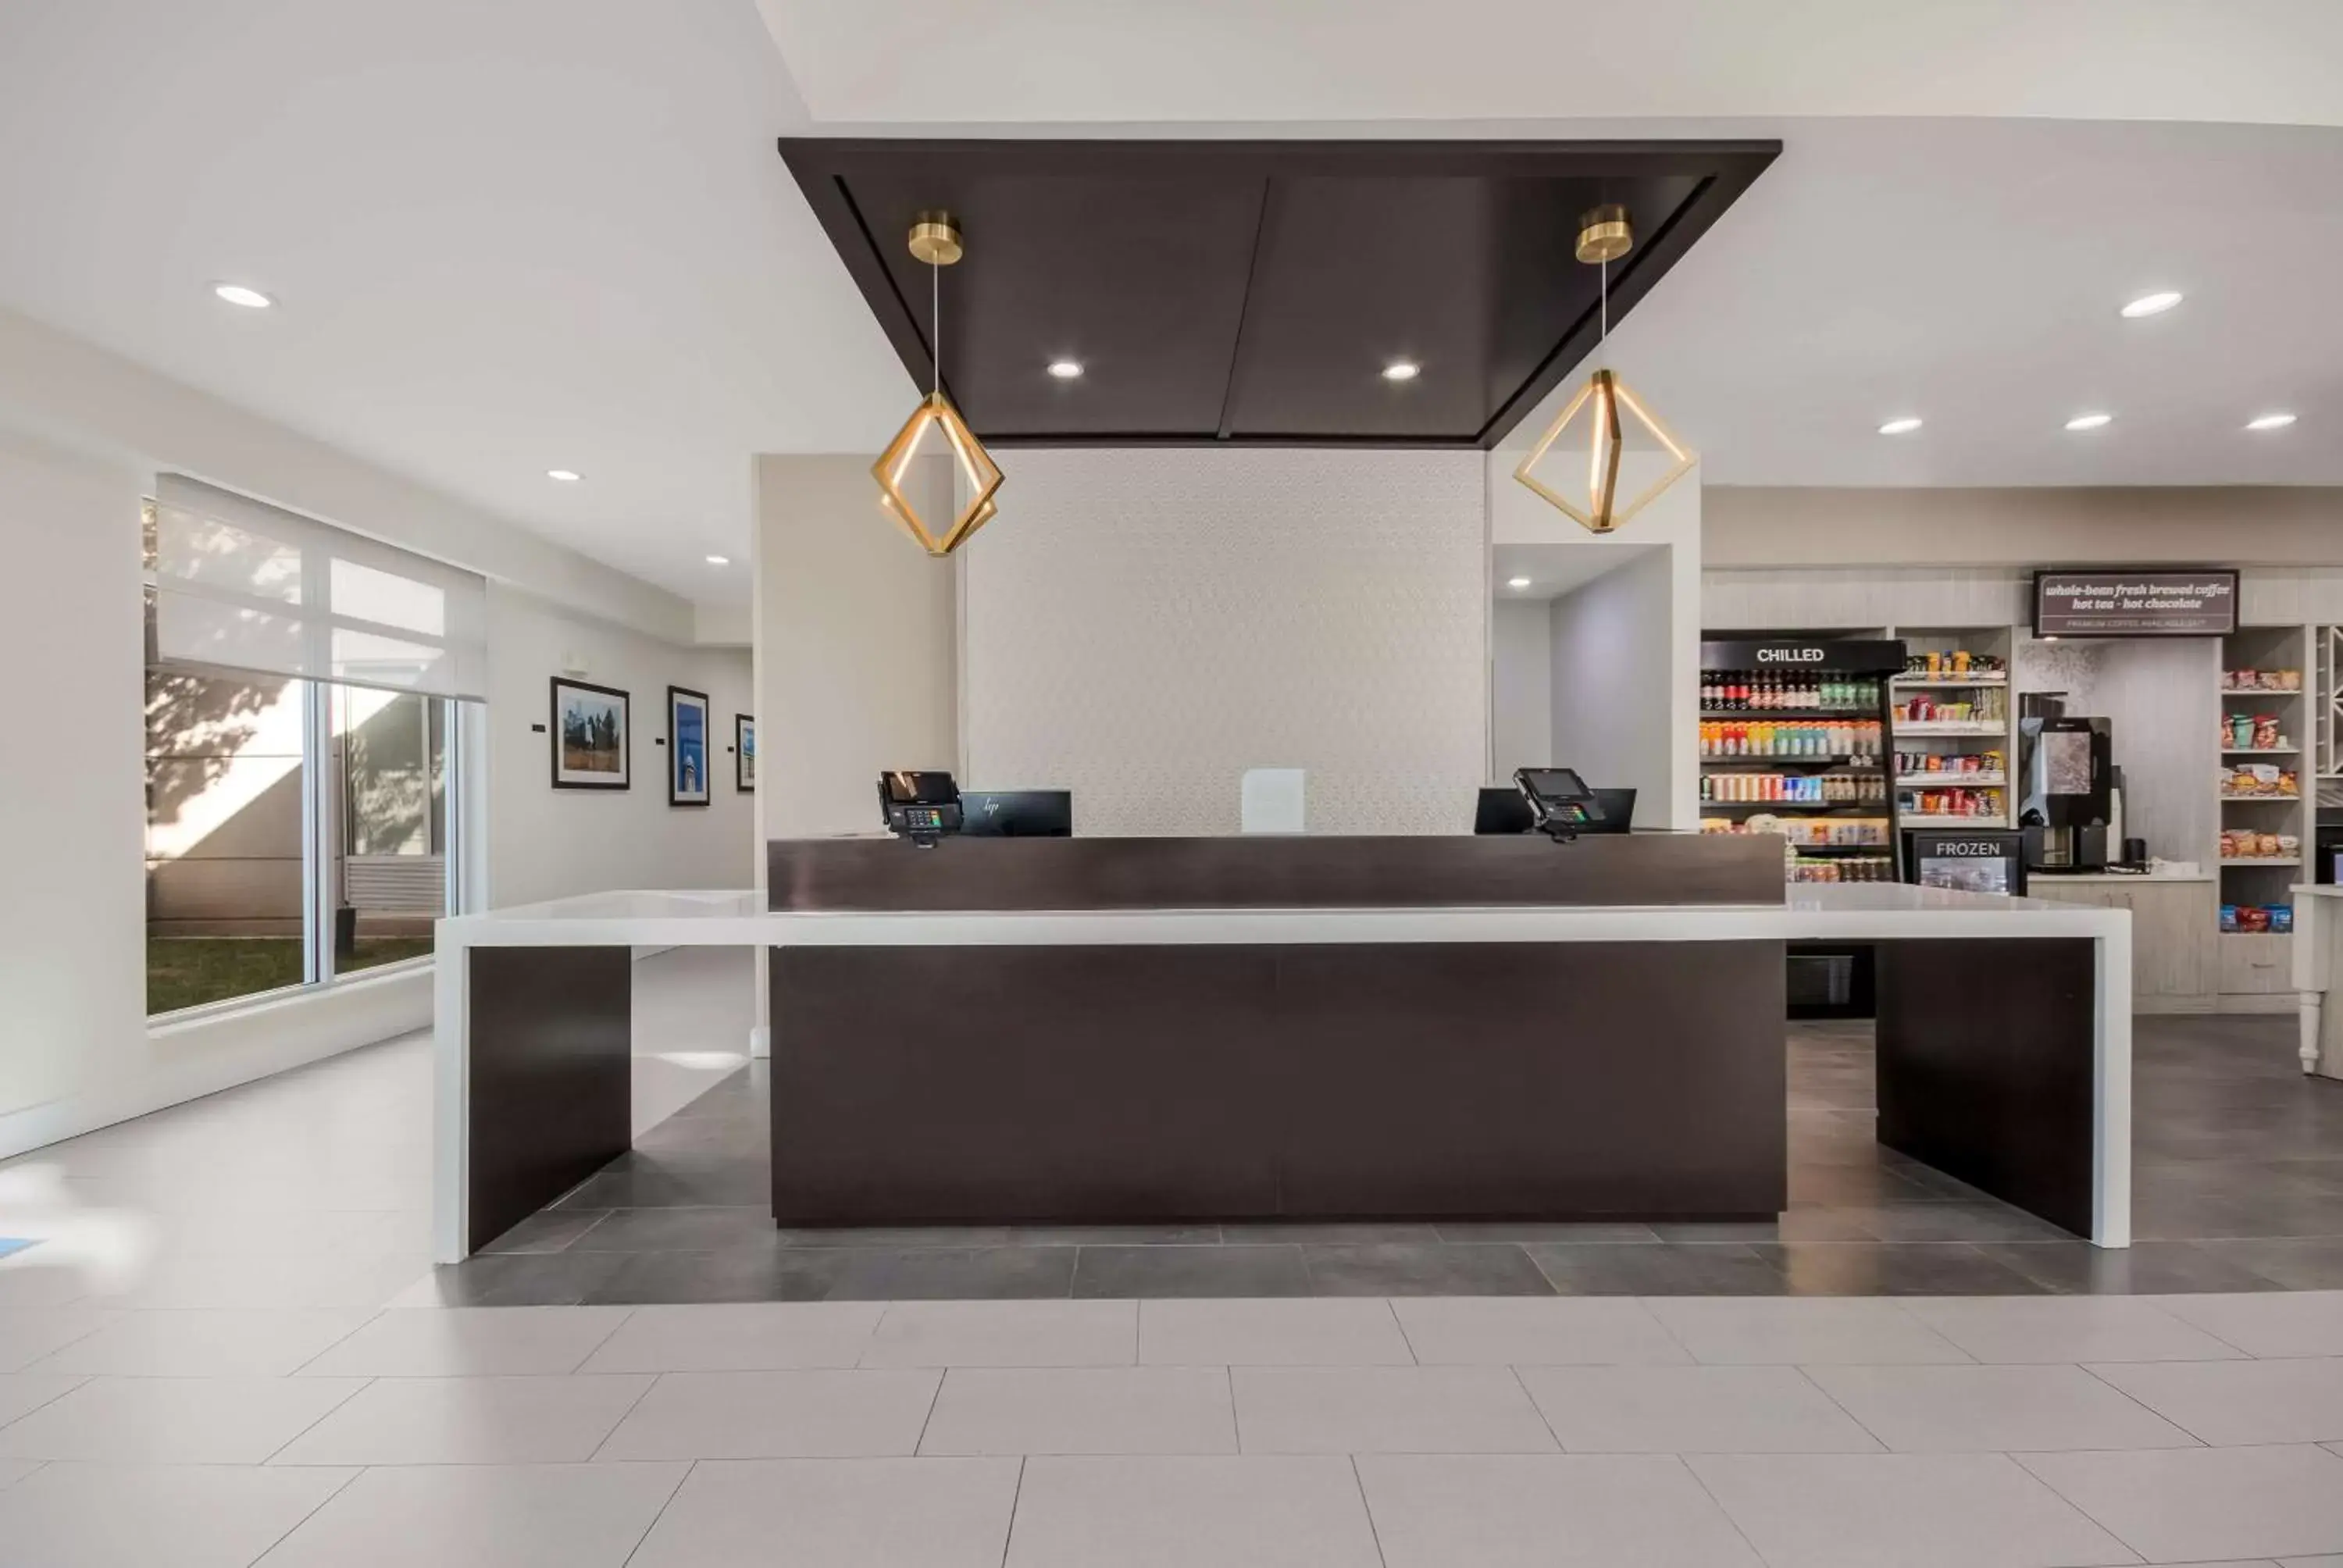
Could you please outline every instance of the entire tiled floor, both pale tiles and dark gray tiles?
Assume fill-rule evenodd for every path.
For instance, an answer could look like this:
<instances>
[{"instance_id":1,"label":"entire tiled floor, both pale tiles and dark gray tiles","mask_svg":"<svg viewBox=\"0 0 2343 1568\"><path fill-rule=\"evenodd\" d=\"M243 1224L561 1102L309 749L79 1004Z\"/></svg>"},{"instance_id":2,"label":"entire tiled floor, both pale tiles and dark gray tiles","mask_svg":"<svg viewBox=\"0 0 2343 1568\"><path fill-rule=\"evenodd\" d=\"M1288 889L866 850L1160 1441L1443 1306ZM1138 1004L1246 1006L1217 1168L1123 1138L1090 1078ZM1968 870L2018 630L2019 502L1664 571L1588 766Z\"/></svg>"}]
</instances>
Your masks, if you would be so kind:
<instances>
[{"instance_id":1,"label":"entire tiled floor, both pale tiles and dark gray tiles","mask_svg":"<svg viewBox=\"0 0 2343 1568\"><path fill-rule=\"evenodd\" d=\"M757 1118L722 1083L743 1008L708 1005L736 982L640 966L637 1097L689 1113L604 1188L726 1179L715 1123ZM2282 1289L2336 1252L2338 1085L2294 1073L2284 1020L2142 1036L2142 1219L2167 1240L2132 1254L1945 1240L1996 1209L1856 1137L1863 1041L1832 1029L1799 1038L1799 1202L1771 1238L806 1247L724 1214L754 1202L637 1200L452 1275L426 1263L429 1050L363 1050L0 1165L0 1235L30 1198L47 1238L0 1259L0 1566L2343 1568L2343 1291ZM579 1247L675 1223L698 1245ZM970 1261L996 1252L1054 1296L1157 1298L438 1305L499 1268L567 1268L572 1301L628 1268L916 1294L1003 1280ZM1207 1254L1223 1289L1392 1284L1174 1298ZM1778 1298L1970 1254L2017 1284ZM1413 1294L1523 1266L1776 1296ZM2050 1287L2142 1294L2022 1294Z\"/></svg>"}]
</instances>

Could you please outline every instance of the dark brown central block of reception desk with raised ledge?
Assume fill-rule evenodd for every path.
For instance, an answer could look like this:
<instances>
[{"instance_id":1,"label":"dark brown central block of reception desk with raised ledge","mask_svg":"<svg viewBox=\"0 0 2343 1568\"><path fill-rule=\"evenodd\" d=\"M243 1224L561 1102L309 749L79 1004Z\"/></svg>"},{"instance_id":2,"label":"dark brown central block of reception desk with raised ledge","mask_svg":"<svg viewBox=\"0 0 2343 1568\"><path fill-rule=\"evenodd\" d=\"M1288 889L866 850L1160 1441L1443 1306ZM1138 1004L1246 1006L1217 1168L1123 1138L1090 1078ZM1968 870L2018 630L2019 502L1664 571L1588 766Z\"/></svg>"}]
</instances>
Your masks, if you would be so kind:
<instances>
[{"instance_id":1,"label":"dark brown central block of reception desk with raised ledge","mask_svg":"<svg viewBox=\"0 0 2343 1568\"><path fill-rule=\"evenodd\" d=\"M1600 938L1778 909L1771 839L829 839L769 886L968 914L773 949L787 1226L1783 1207L1783 942ZM1574 930L1474 930L1525 909Z\"/></svg>"}]
</instances>

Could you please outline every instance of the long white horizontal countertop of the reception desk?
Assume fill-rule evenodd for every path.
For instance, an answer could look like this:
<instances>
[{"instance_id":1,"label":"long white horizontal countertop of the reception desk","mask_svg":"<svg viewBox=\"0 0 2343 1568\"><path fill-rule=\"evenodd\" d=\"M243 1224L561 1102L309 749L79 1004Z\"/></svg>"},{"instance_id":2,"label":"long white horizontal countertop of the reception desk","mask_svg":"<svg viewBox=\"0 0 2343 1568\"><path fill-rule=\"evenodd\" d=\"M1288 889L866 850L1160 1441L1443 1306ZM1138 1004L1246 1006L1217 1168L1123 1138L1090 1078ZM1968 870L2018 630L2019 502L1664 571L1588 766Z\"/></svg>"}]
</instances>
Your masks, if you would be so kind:
<instances>
[{"instance_id":1,"label":"long white horizontal countertop of the reception desk","mask_svg":"<svg viewBox=\"0 0 2343 1568\"><path fill-rule=\"evenodd\" d=\"M2125 879L2144 881L2144 879ZM438 921L440 947L979 947L1160 942L1729 942L2104 938L2125 909L1900 881L1790 884L1781 905L975 909L785 914L754 891L630 891Z\"/></svg>"}]
</instances>

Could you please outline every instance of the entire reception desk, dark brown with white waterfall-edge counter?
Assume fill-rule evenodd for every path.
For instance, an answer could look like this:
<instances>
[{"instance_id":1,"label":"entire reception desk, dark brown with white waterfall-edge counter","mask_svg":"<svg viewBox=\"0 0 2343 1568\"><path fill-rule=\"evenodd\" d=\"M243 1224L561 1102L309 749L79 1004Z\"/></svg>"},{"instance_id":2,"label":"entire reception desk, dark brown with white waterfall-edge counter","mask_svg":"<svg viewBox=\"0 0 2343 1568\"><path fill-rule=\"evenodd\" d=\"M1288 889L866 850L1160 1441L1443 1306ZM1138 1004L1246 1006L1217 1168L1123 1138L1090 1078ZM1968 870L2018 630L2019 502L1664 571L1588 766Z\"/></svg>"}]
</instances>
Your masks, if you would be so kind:
<instances>
[{"instance_id":1,"label":"entire reception desk, dark brown with white waterfall-edge counter","mask_svg":"<svg viewBox=\"0 0 2343 1568\"><path fill-rule=\"evenodd\" d=\"M1863 940L1879 1139L2130 1240L2116 909L1785 891L1764 839L1668 834L769 853L764 909L626 893L440 923L445 1261L626 1151L642 945L769 952L794 1228L1771 1216L1785 947Z\"/></svg>"}]
</instances>

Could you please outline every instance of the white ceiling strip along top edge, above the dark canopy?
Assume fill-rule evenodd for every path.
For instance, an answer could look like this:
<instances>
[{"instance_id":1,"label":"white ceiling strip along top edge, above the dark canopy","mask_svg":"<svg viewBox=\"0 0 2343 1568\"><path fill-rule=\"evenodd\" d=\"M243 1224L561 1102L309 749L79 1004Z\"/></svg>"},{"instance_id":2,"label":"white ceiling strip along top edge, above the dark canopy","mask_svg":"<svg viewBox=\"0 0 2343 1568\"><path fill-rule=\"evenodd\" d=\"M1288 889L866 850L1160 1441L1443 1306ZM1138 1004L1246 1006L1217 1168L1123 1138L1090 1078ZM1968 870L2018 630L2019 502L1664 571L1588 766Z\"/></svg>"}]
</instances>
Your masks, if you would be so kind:
<instances>
[{"instance_id":1,"label":"white ceiling strip along top edge, above the dark canopy","mask_svg":"<svg viewBox=\"0 0 2343 1568\"><path fill-rule=\"evenodd\" d=\"M2334 0L759 0L853 124L2006 115L2343 124Z\"/></svg>"}]
</instances>

